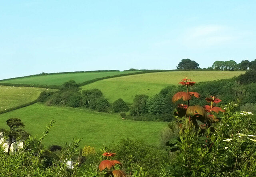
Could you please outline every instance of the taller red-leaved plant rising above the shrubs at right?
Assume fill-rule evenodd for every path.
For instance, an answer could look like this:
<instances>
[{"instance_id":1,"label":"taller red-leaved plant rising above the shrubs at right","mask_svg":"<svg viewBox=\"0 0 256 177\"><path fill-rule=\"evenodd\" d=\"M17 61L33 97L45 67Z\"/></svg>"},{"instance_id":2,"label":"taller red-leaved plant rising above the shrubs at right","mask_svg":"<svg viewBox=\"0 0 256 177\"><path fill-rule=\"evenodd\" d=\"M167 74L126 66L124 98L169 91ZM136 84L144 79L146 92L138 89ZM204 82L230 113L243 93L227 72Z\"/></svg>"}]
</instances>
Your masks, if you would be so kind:
<instances>
[{"instance_id":1,"label":"taller red-leaved plant rising above the shrubs at right","mask_svg":"<svg viewBox=\"0 0 256 177\"><path fill-rule=\"evenodd\" d=\"M205 130L210 128L210 130L214 131L214 128L210 127L212 123L218 121L215 113L224 112L222 108L217 107L221 100L216 98L215 96L211 96L211 98L206 98L207 102L210 102L210 105L199 106L199 105L190 105L190 100L192 97L199 98L200 94L198 92L190 92L189 87L193 86L196 82L192 82L191 79L187 77L182 79L182 84L186 87L186 92L178 92L174 94L172 97L172 102L175 103L178 100L182 99L187 101L187 104L178 104L177 108L174 111L174 116L176 117L176 122L174 124L170 124L169 127L173 129L174 127L180 128L180 131L183 131L183 128L191 128L194 126L196 130L200 130L202 134L204 134ZM174 128L175 129L175 128ZM173 130L174 130L173 129ZM178 150L176 144L180 142L179 137L173 137L169 142L166 143L167 146L170 147L170 151Z\"/></svg>"}]
</instances>

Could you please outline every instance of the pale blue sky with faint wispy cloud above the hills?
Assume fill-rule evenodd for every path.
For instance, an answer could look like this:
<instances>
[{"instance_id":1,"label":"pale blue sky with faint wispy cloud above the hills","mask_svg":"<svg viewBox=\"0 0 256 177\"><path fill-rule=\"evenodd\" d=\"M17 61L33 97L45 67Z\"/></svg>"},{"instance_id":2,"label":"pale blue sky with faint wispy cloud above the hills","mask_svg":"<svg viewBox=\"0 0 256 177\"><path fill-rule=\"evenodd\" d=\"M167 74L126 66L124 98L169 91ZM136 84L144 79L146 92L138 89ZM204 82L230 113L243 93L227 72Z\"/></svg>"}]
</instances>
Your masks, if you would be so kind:
<instances>
[{"instance_id":1,"label":"pale blue sky with faint wispy cloud above the hills","mask_svg":"<svg viewBox=\"0 0 256 177\"><path fill-rule=\"evenodd\" d=\"M256 59L255 0L0 3L0 79Z\"/></svg>"}]
</instances>

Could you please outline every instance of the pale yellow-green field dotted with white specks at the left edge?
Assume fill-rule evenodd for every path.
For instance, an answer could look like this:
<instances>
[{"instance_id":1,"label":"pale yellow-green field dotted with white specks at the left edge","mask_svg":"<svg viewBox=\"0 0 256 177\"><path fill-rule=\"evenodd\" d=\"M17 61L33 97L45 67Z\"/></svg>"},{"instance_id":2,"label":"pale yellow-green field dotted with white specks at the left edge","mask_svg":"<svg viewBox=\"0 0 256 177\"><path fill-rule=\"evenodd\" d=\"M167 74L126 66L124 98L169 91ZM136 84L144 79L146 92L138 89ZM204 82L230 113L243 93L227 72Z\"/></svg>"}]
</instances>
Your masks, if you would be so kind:
<instances>
[{"instance_id":1,"label":"pale yellow-green field dotted with white specks at the left edge","mask_svg":"<svg viewBox=\"0 0 256 177\"><path fill-rule=\"evenodd\" d=\"M0 111L36 100L42 91L53 91L46 88L10 87L0 85Z\"/></svg>"}]
</instances>

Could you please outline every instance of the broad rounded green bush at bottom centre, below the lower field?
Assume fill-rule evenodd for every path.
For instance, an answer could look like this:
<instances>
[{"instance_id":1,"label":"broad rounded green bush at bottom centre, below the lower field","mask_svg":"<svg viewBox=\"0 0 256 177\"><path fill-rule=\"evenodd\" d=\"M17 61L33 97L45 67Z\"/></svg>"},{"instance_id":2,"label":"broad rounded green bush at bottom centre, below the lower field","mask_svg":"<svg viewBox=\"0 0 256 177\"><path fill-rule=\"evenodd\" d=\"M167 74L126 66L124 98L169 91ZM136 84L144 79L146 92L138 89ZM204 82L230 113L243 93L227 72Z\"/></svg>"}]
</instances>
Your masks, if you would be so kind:
<instances>
[{"instance_id":1,"label":"broad rounded green bush at bottom centre, below the lower field","mask_svg":"<svg viewBox=\"0 0 256 177\"><path fill-rule=\"evenodd\" d=\"M116 153L116 159L125 159L122 166L126 173L132 171L148 171L149 177L160 177L161 164L167 162L168 152L146 146L141 140L123 139L119 143L112 145L110 151Z\"/></svg>"}]
</instances>

